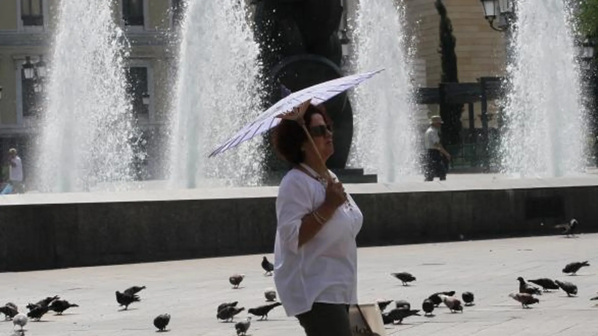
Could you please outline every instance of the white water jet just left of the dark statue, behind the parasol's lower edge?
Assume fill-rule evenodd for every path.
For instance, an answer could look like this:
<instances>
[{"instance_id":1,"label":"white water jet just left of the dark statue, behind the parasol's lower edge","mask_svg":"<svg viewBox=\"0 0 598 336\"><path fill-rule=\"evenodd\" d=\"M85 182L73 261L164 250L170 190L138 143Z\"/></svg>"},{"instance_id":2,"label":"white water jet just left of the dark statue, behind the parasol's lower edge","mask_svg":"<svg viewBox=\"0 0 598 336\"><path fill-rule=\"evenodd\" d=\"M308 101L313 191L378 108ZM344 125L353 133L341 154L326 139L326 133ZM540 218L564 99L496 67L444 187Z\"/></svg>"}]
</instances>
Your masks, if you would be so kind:
<instances>
[{"instance_id":1,"label":"white water jet just left of the dark statue, behind the parasol's lower edge","mask_svg":"<svg viewBox=\"0 0 598 336\"><path fill-rule=\"evenodd\" d=\"M258 141L208 159L211 150L261 112L259 48L242 3L191 1L187 6L170 119L170 187L260 183Z\"/></svg>"}]
</instances>

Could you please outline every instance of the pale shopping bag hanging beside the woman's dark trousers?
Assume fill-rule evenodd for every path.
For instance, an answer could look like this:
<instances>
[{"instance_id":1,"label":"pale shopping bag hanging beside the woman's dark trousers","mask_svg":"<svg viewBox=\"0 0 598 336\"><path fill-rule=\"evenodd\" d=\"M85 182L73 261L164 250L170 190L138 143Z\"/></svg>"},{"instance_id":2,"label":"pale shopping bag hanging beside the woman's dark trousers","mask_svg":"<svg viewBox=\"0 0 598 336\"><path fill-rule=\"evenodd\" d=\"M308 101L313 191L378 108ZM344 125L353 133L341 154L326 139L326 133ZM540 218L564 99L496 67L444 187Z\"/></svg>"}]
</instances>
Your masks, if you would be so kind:
<instances>
[{"instance_id":1,"label":"pale shopping bag hanging beside the woman's dark trousers","mask_svg":"<svg viewBox=\"0 0 598 336\"><path fill-rule=\"evenodd\" d=\"M386 336L382 313L376 303L352 304L349 321L353 336Z\"/></svg>"}]
</instances>

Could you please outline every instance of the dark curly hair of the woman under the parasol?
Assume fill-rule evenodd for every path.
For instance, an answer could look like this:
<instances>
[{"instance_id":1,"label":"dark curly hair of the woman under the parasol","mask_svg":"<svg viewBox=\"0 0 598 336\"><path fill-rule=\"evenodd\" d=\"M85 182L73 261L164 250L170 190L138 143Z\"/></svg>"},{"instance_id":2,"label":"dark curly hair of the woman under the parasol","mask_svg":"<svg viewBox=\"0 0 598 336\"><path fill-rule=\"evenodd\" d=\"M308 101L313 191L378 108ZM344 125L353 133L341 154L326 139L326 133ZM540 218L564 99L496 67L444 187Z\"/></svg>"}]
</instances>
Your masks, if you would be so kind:
<instances>
[{"instance_id":1,"label":"dark curly hair of the woman under the parasol","mask_svg":"<svg viewBox=\"0 0 598 336\"><path fill-rule=\"evenodd\" d=\"M308 129L312 122L312 115L315 114L322 115L324 122L326 122L327 125L332 125L324 106L310 105L303 115L303 120ZM305 141L307 141L305 131L297 122L292 120L282 119L272 132L271 142L274 147L274 152L276 152L276 155L278 155L280 159L283 159L290 164L297 165L304 161L305 158L301 151L301 146L303 146Z\"/></svg>"}]
</instances>

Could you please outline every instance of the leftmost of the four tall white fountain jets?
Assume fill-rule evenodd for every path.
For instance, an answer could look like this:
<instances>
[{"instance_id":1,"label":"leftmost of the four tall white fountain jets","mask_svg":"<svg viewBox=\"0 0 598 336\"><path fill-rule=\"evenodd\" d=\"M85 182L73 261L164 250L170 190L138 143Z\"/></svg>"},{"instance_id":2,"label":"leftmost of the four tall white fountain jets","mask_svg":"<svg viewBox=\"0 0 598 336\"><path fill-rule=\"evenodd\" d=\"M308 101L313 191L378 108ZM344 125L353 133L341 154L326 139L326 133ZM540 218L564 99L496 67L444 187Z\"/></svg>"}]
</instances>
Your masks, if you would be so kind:
<instances>
[{"instance_id":1,"label":"leftmost of the four tall white fountain jets","mask_svg":"<svg viewBox=\"0 0 598 336\"><path fill-rule=\"evenodd\" d=\"M89 191L98 183L133 180L136 133L123 40L111 1L60 1L36 146L39 191Z\"/></svg>"}]
</instances>

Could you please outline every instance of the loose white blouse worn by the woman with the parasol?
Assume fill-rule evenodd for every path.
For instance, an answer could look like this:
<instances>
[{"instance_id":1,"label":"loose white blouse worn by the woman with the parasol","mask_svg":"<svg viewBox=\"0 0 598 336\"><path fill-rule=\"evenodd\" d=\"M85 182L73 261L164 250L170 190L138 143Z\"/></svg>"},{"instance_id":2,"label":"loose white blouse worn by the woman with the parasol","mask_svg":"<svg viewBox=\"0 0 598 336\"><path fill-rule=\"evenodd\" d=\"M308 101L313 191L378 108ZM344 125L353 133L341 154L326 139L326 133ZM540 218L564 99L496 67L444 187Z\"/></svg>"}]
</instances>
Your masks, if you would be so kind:
<instances>
[{"instance_id":1,"label":"loose white blouse worn by the woman with the parasol","mask_svg":"<svg viewBox=\"0 0 598 336\"><path fill-rule=\"evenodd\" d=\"M355 238L363 215L349 194L350 206L339 206L324 227L298 248L301 218L324 203L325 196L324 185L299 169L291 169L280 182L274 284L287 316L309 312L315 302L357 303Z\"/></svg>"}]
</instances>

